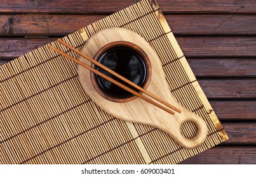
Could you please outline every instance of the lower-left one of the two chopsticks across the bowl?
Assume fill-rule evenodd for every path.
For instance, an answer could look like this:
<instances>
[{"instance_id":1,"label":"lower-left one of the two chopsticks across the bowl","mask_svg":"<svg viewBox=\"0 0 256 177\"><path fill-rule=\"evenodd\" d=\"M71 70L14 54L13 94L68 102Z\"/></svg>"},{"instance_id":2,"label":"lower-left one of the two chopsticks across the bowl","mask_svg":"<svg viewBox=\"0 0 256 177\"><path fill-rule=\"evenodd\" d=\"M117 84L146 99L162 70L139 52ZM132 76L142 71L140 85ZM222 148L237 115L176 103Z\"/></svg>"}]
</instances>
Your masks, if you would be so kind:
<instances>
[{"instance_id":1,"label":"lower-left one of the two chopsticks across the bowl","mask_svg":"<svg viewBox=\"0 0 256 177\"><path fill-rule=\"evenodd\" d=\"M50 44L48 45L48 47L49 47L50 49L52 49L53 51L58 52L59 54L62 54L62 55L65 56L66 58L71 59L71 60L74 61L75 63L77 63L77 64L83 66L83 67L86 68L87 70L90 70L91 72L95 73L96 75L101 76L101 77L104 78L105 80L108 80L109 82L112 82L112 83L114 83L115 85L118 85L118 86L121 87L122 89L125 89L127 92L130 92L131 94L136 95L137 97L140 97L141 99L144 99L144 101L147 101L147 102L153 104L154 106L157 106L157 107L159 107L160 109L163 109L164 111L166 111L166 112L168 112L168 113L170 113L170 114L172 114L172 115L174 114L173 111L170 111L169 109L166 109L166 107L163 107L163 106L161 106L160 104L158 104L158 103L152 101L151 99L145 97L144 95L139 94L138 92L135 92L135 90L132 90L132 89L130 89L129 87L123 85L122 83L119 83L118 81L112 79L111 77L109 77L109 76L107 76L107 75L104 75L104 73L101 73L100 71L95 70L95 69L92 68L91 66L88 66L87 64L85 64L85 63L79 61L78 59L73 58L73 57L70 56L69 54L66 54L66 53L63 52L63 51L60 51L60 50L57 49L56 47L53 47L53 46L51 46Z\"/></svg>"}]
</instances>

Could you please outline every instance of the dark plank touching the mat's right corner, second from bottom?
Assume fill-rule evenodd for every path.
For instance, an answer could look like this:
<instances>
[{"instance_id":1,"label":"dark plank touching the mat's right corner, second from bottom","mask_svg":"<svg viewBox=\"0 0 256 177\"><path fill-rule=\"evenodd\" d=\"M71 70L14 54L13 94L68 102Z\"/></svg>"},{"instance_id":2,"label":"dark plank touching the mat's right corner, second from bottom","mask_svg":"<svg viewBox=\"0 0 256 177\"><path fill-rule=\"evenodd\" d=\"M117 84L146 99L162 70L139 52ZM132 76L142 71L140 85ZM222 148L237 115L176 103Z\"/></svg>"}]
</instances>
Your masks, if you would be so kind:
<instances>
[{"instance_id":1,"label":"dark plank touching the mat's right corner, second from bottom","mask_svg":"<svg viewBox=\"0 0 256 177\"><path fill-rule=\"evenodd\" d=\"M256 123L222 123L224 130L229 136L225 144L256 144Z\"/></svg>"}]
</instances>

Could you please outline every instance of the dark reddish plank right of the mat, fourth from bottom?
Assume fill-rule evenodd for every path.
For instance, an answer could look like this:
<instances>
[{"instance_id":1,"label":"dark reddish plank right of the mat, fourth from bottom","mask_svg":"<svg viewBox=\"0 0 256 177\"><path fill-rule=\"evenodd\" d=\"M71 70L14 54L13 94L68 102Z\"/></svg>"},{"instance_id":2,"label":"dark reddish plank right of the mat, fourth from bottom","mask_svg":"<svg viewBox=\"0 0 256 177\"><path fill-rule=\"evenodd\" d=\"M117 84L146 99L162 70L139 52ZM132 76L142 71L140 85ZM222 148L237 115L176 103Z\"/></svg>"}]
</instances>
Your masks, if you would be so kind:
<instances>
[{"instance_id":1,"label":"dark reddish plank right of the mat, fourth from bottom","mask_svg":"<svg viewBox=\"0 0 256 177\"><path fill-rule=\"evenodd\" d=\"M208 99L255 99L256 80L199 80Z\"/></svg>"}]
</instances>

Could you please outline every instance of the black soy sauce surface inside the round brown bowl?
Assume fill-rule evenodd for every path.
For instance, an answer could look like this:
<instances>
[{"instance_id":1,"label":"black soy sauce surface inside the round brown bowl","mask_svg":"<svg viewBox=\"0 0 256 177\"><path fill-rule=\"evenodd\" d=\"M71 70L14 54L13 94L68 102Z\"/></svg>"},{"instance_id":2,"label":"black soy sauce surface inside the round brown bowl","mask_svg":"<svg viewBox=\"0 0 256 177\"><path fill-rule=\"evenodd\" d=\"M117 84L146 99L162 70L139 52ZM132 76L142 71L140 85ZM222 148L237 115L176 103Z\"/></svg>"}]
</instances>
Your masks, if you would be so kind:
<instances>
[{"instance_id":1,"label":"black soy sauce surface inside the round brown bowl","mask_svg":"<svg viewBox=\"0 0 256 177\"><path fill-rule=\"evenodd\" d=\"M102 56L100 56L98 59L98 62L104 64L107 66L107 68L110 68L119 75L124 76L131 82L143 87L145 78L147 76L147 70L144 60L134 49L124 46L113 47L102 54ZM116 78L116 76L112 76L111 74L107 73L107 71L103 70L102 68L97 67L97 70L133 89L133 87L119 80L119 78ZM111 97L127 98L133 95L98 75L96 75L96 79L100 89Z\"/></svg>"}]
</instances>

